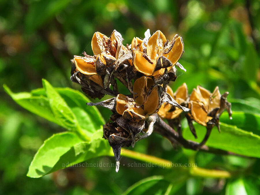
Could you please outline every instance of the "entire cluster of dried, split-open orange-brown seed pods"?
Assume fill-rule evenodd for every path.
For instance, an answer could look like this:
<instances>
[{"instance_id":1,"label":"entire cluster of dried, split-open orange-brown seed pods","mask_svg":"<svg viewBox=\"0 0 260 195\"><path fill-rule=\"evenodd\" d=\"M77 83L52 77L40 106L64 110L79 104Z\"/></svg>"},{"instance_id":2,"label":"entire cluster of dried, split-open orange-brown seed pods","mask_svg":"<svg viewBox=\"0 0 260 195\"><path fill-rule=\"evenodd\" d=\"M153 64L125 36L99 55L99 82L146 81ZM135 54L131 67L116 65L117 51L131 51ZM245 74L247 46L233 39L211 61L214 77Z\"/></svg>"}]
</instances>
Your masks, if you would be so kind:
<instances>
[{"instance_id":1,"label":"entire cluster of dried, split-open orange-brown seed pods","mask_svg":"<svg viewBox=\"0 0 260 195\"><path fill-rule=\"evenodd\" d=\"M228 93L220 96L218 88L211 94L198 87L189 96L185 83L175 93L168 86L177 78L175 66L186 71L178 62L184 52L180 36L168 40L159 30L151 36L149 29L144 35L144 39L135 37L130 46L124 46L116 30L110 37L95 32L91 41L93 55L83 52L83 56L75 55L71 60L70 79L78 83L84 93L99 99L105 94L114 96L87 104L106 107L113 113L103 125L103 137L113 148L116 171L121 147L134 147L135 142L151 135L158 115L172 127L179 127L184 115L196 136L192 121L206 127L218 126L225 108L231 114L230 103L226 101ZM129 94L118 91L117 81L127 87ZM181 136L179 130L178 133Z\"/></svg>"}]
</instances>

